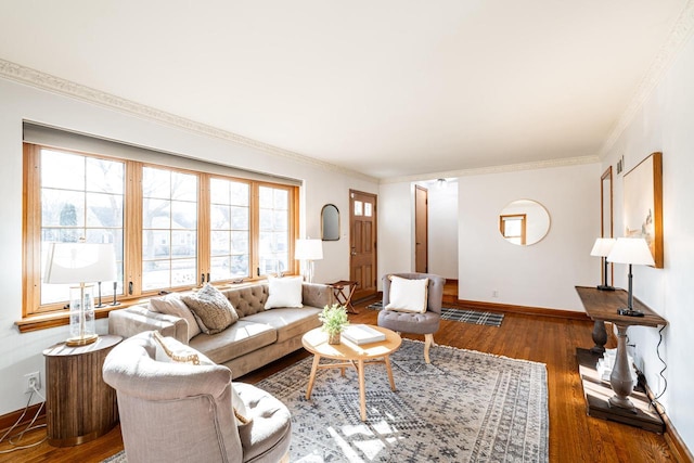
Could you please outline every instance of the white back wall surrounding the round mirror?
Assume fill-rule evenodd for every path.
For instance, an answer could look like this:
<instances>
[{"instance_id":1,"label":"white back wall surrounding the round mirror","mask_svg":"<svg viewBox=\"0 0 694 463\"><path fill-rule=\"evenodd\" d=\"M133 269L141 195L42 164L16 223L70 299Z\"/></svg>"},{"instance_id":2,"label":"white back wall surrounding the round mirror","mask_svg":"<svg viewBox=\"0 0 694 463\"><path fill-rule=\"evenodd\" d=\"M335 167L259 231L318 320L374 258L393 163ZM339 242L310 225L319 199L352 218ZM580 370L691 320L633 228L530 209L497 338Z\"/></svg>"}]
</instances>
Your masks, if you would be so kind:
<instances>
[{"instance_id":1,"label":"white back wall surrounding the round mirror","mask_svg":"<svg viewBox=\"0 0 694 463\"><path fill-rule=\"evenodd\" d=\"M589 256L600 234L600 175L590 164L459 178L459 298L583 311L574 286L600 282L600 261ZM501 236L499 214L515 200L548 210L539 243Z\"/></svg>"}]
</instances>

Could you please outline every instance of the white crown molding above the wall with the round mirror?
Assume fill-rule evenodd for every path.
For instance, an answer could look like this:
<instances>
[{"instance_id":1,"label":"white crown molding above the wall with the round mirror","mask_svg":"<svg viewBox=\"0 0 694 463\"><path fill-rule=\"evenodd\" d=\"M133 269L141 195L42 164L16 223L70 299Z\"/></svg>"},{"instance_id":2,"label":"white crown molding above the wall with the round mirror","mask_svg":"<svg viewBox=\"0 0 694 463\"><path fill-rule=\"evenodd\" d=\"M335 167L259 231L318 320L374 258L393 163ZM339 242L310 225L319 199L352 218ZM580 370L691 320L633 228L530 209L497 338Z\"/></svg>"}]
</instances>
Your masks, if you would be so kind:
<instances>
[{"instance_id":1,"label":"white crown molding above the wall with the round mirror","mask_svg":"<svg viewBox=\"0 0 694 463\"><path fill-rule=\"evenodd\" d=\"M381 179L381 184L419 182L419 181L427 181L432 179L446 179L451 177L484 176L488 173L517 172L522 170L550 169L553 167L580 166L583 164L595 164L595 163L600 163L600 158L596 155L566 157L561 159L538 160L532 163L506 164L503 166L479 167L475 169L448 170L444 172L430 172L430 173L423 173L423 175L408 176L408 177L393 177L388 179Z\"/></svg>"}]
</instances>

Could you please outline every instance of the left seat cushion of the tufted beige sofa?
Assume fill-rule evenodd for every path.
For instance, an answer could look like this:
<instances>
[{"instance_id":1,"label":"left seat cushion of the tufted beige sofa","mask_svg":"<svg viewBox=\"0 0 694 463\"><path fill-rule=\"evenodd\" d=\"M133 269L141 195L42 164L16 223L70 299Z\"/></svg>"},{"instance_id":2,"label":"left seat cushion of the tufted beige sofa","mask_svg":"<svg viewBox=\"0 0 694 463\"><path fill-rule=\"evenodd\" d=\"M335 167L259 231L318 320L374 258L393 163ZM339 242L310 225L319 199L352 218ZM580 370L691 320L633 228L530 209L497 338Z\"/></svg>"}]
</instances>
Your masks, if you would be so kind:
<instances>
[{"instance_id":1,"label":"left seat cushion of the tufted beige sofa","mask_svg":"<svg viewBox=\"0 0 694 463\"><path fill-rule=\"evenodd\" d=\"M239 320L221 333L201 333L191 339L191 347L205 353L216 363L226 363L278 339L278 332L264 323ZM233 372L232 372L233 373Z\"/></svg>"}]
</instances>

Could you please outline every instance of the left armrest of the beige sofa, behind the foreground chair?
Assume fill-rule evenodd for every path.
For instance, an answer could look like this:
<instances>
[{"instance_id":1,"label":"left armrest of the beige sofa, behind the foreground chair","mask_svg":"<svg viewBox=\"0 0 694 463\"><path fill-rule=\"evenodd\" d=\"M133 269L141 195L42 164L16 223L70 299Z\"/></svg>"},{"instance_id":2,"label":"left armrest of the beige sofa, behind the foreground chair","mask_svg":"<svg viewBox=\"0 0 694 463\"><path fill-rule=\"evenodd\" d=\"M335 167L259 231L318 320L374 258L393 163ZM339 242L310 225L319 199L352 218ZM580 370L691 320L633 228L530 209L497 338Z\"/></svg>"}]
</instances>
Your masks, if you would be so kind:
<instances>
[{"instance_id":1,"label":"left armrest of the beige sofa, behind the foreground chair","mask_svg":"<svg viewBox=\"0 0 694 463\"><path fill-rule=\"evenodd\" d=\"M180 317L154 312L142 306L112 310L108 313L108 334L125 338L153 330L188 344L188 322Z\"/></svg>"}]
</instances>

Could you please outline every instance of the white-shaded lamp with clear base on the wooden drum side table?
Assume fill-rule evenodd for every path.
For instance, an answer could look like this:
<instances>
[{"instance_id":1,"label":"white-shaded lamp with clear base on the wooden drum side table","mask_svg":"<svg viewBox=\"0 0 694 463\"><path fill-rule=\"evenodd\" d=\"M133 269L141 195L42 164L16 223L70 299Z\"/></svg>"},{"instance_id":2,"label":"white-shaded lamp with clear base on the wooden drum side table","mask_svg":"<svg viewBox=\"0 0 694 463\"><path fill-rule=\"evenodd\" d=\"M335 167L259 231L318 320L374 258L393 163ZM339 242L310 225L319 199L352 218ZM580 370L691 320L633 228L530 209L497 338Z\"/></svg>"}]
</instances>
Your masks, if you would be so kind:
<instances>
[{"instance_id":1,"label":"white-shaded lamp with clear base on the wooden drum side table","mask_svg":"<svg viewBox=\"0 0 694 463\"><path fill-rule=\"evenodd\" d=\"M43 281L49 284L78 284L69 288L68 346L97 340L94 330L93 285L87 283L116 280L113 244L51 243Z\"/></svg>"}]
</instances>

